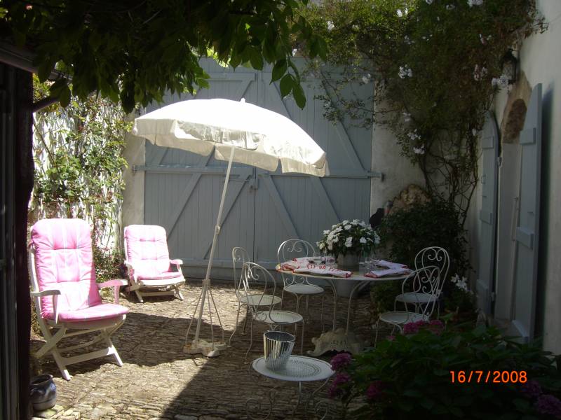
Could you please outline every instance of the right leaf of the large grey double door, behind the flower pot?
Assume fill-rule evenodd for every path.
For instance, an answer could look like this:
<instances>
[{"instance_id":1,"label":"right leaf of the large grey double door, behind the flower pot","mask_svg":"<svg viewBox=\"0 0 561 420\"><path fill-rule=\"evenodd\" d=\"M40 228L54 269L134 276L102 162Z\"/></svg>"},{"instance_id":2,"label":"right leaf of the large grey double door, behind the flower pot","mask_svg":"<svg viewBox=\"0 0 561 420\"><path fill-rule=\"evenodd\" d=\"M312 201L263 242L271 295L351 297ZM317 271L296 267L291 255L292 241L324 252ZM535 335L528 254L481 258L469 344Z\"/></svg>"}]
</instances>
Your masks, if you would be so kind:
<instances>
[{"instance_id":1,"label":"right leaf of the large grey double door, behind the flower pot","mask_svg":"<svg viewBox=\"0 0 561 420\"><path fill-rule=\"evenodd\" d=\"M314 101L325 90L316 80L302 84L308 99L299 109L290 97L282 99L270 73L259 74L262 106L297 122L327 153L331 174L316 178L257 170L255 195L255 258L267 267L276 263L282 241L302 238L315 245L321 232L344 219L367 221L370 211L370 130L346 129L325 120L323 104ZM349 134L351 132L351 134ZM271 221L277 221L271 223ZM280 223L279 223L280 222Z\"/></svg>"}]
</instances>

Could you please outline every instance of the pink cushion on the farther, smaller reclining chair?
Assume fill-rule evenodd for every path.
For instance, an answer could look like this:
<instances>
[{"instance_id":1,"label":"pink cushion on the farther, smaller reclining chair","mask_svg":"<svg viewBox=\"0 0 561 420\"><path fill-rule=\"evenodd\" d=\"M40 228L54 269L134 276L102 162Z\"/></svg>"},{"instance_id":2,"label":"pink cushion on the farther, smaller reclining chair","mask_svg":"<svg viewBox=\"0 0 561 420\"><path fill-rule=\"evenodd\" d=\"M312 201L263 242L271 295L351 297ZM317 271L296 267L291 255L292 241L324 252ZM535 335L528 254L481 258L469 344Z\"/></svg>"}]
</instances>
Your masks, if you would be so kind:
<instances>
[{"instance_id":1,"label":"pink cushion on the farther, smaller reclining chair","mask_svg":"<svg viewBox=\"0 0 561 420\"><path fill-rule=\"evenodd\" d=\"M130 225L125 228L126 257L137 278L154 279L170 271L170 254L165 229L155 225ZM175 274L177 276L177 274Z\"/></svg>"}]
</instances>

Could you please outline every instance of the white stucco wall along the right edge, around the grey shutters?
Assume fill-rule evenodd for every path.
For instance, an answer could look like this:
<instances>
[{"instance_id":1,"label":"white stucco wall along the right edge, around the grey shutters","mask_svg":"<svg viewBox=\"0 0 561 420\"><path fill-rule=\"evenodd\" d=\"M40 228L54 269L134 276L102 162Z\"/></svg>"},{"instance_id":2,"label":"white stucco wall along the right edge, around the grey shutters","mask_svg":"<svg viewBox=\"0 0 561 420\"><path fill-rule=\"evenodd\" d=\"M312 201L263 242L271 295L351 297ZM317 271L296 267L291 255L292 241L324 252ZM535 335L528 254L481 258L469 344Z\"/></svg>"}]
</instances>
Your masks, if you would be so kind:
<instances>
[{"instance_id":1,"label":"white stucco wall along the right edge, around the grey shutters","mask_svg":"<svg viewBox=\"0 0 561 420\"><path fill-rule=\"evenodd\" d=\"M538 307L536 316L543 313L543 347L555 353L561 353L561 218L557 209L561 208L561 1L537 0L537 6L549 27L543 34L534 34L527 38L519 53L519 68L531 87L542 83L543 87L543 156L541 180L541 240L540 254L543 266L540 267L545 279L541 293L544 295L543 307ZM494 102L494 113L499 129L508 101L508 92L503 90ZM499 133L500 135L500 133ZM473 200L468 232L472 246L472 262L477 267L478 245L478 209L481 191L478 189ZM540 294L540 291L538 292Z\"/></svg>"}]
</instances>

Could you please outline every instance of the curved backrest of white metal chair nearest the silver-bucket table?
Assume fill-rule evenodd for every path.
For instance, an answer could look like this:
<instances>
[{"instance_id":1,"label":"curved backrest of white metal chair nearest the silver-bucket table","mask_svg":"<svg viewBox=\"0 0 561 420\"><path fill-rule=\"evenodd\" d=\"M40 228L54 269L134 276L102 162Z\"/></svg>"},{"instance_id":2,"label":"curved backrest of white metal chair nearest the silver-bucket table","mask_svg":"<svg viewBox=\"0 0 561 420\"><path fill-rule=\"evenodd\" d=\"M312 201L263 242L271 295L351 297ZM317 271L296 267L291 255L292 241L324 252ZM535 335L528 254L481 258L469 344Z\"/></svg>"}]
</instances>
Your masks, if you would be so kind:
<instances>
[{"instance_id":1,"label":"curved backrest of white metal chair nearest the silver-bucket table","mask_svg":"<svg viewBox=\"0 0 561 420\"><path fill-rule=\"evenodd\" d=\"M255 293L255 290L252 290L252 283L259 283L259 286L262 288L259 294ZM248 308L254 315L266 307L266 304L263 303L265 302L265 299L271 295L274 297L276 293L276 282L272 274L268 269L259 264L255 264L255 262L245 262L243 264L240 285L240 290L243 296L249 297L252 295L255 297L256 295L260 295L258 299L248 300L248 302L250 302ZM273 302L273 299L269 301ZM267 310L269 313L273 310L272 303L269 305L269 309Z\"/></svg>"}]
</instances>

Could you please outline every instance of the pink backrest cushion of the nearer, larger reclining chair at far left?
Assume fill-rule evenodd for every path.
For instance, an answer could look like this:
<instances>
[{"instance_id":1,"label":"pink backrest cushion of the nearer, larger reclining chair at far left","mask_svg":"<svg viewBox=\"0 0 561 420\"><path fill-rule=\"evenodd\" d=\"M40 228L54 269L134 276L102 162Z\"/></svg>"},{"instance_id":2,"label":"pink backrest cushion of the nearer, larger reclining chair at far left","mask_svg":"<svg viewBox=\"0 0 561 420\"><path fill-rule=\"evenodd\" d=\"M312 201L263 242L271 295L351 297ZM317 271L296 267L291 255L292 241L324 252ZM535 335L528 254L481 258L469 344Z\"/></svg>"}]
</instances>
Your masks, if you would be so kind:
<instances>
[{"instance_id":1,"label":"pink backrest cushion of the nearer, larger reclining chair at far left","mask_svg":"<svg viewBox=\"0 0 561 420\"><path fill-rule=\"evenodd\" d=\"M92 240L80 219L44 219L31 230L39 290L57 288L60 313L100 304L95 283ZM53 318L53 297L41 297L41 316Z\"/></svg>"}]
</instances>

